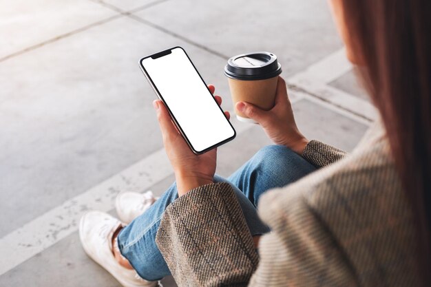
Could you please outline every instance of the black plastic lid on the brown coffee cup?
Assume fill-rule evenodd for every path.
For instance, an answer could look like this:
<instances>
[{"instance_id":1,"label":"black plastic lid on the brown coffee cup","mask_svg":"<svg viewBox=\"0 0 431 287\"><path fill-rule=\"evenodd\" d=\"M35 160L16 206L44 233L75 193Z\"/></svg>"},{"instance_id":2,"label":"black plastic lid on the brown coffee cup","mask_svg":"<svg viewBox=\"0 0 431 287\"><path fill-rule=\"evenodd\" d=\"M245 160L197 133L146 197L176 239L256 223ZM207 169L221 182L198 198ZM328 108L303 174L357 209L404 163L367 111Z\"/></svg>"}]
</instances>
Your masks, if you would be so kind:
<instances>
[{"instance_id":1,"label":"black plastic lid on the brown coffee cup","mask_svg":"<svg viewBox=\"0 0 431 287\"><path fill-rule=\"evenodd\" d=\"M224 74L236 80L253 81L273 78L282 73L277 56L270 52L254 52L233 56L224 67Z\"/></svg>"}]
</instances>

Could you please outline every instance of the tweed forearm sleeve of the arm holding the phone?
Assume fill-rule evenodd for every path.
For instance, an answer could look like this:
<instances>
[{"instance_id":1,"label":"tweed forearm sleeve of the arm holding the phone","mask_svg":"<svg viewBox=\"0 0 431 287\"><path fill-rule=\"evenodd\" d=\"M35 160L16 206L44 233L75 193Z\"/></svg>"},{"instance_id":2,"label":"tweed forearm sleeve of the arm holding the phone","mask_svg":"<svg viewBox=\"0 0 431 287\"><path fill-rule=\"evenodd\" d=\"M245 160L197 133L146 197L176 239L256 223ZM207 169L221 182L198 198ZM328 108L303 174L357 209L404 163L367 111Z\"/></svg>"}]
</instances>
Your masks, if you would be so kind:
<instances>
[{"instance_id":1,"label":"tweed forearm sleeve of the arm holding the phone","mask_svg":"<svg viewBox=\"0 0 431 287\"><path fill-rule=\"evenodd\" d=\"M258 256L227 182L207 184L170 204L156 244L178 286L247 286Z\"/></svg>"}]
</instances>

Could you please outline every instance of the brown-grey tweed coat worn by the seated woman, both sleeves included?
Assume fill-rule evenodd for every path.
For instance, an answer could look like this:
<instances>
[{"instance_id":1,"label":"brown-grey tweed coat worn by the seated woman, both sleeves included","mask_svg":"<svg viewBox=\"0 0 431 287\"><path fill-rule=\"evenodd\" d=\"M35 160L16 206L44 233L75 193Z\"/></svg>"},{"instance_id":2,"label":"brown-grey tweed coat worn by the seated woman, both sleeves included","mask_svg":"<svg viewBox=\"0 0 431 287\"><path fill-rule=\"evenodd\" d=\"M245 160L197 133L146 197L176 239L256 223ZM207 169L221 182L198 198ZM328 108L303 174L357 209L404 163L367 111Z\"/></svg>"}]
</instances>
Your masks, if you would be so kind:
<instances>
[{"instance_id":1,"label":"brown-grey tweed coat worn by the seated woman, both sleeves included","mask_svg":"<svg viewBox=\"0 0 431 287\"><path fill-rule=\"evenodd\" d=\"M262 195L258 254L231 186L168 206L156 237L178 286L417 286L412 209L376 123L350 155L312 140L320 167Z\"/></svg>"}]
</instances>

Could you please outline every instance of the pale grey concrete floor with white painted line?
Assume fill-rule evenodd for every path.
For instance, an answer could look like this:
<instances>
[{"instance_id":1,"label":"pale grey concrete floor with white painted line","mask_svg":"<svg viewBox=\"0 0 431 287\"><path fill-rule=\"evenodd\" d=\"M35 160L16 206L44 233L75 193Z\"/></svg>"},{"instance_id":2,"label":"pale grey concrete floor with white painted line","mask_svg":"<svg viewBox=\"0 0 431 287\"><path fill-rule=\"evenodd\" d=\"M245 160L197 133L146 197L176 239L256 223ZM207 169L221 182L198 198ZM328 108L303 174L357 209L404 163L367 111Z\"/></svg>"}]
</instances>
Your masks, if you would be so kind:
<instances>
[{"instance_id":1,"label":"pale grey concrete floor with white painted line","mask_svg":"<svg viewBox=\"0 0 431 287\"><path fill-rule=\"evenodd\" d=\"M232 110L229 56L274 52L299 129L348 151L374 118L325 1L0 1L0 39L0 286L119 286L85 255L76 222L112 212L118 191L160 195L173 180L142 56L185 47ZM222 176L271 143L232 122Z\"/></svg>"}]
</instances>

